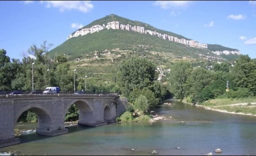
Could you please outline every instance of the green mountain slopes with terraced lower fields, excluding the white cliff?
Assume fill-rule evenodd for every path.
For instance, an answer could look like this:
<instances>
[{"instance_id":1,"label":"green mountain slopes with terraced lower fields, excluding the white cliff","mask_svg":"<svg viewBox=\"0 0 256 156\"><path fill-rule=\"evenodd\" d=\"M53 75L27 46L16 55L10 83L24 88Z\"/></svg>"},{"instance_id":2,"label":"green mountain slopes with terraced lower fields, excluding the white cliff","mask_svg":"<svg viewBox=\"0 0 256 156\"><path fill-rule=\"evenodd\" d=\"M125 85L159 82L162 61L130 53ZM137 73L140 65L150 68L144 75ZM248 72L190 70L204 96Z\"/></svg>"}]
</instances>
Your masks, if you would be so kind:
<instances>
[{"instance_id":1,"label":"green mountain slopes with terraced lower fields, excluding the white cliff","mask_svg":"<svg viewBox=\"0 0 256 156\"><path fill-rule=\"evenodd\" d=\"M184 36L154 28L146 23L132 21L113 14L98 19L81 29L95 25L106 25L112 21L132 26L143 26L146 30L155 30L179 39L187 39ZM213 65L215 61L234 60L238 57L238 55L218 56L212 53L212 51L223 50L234 51L236 49L216 44L208 44L207 49L193 48L150 34L120 29L103 29L92 34L88 33L67 39L52 49L49 56L53 58L65 54L71 62L71 69L77 69L80 76L87 75L88 80L99 84L108 84L115 82L117 66L121 61L131 56L146 57L161 69L169 69L175 61L190 61L193 66L205 66Z\"/></svg>"}]
</instances>

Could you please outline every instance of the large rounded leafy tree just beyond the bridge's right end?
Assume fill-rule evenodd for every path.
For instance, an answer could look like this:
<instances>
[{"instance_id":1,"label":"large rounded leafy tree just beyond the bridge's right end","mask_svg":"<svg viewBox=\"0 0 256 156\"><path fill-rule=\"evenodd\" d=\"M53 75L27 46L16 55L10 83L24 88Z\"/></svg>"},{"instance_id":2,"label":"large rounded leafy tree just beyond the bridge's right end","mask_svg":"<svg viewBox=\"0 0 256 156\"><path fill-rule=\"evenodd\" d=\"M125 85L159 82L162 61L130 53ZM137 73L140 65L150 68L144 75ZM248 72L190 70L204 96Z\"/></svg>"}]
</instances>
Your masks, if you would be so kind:
<instances>
[{"instance_id":1,"label":"large rounded leafy tree just beyond the bridge's right end","mask_svg":"<svg viewBox=\"0 0 256 156\"><path fill-rule=\"evenodd\" d=\"M146 58L132 57L119 66L119 85L125 96L134 88L143 89L157 78L156 66Z\"/></svg>"}]
</instances>

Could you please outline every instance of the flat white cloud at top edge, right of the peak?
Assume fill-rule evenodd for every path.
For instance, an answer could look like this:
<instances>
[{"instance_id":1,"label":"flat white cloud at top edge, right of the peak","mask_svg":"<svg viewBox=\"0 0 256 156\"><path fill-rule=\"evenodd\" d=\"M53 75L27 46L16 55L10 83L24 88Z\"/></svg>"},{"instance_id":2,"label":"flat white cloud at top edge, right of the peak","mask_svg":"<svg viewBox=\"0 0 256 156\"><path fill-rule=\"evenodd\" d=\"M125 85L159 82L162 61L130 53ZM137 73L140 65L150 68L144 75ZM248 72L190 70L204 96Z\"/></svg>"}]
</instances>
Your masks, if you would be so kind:
<instances>
[{"instance_id":1,"label":"flat white cloud at top edge, right of the peak","mask_svg":"<svg viewBox=\"0 0 256 156\"><path fill-rule=\"evenodd\" d=\"M173 7L186 7L190 0L157 0L153 5L160 6L163 9L169 9Z\"/></svg>"}]
</instances>

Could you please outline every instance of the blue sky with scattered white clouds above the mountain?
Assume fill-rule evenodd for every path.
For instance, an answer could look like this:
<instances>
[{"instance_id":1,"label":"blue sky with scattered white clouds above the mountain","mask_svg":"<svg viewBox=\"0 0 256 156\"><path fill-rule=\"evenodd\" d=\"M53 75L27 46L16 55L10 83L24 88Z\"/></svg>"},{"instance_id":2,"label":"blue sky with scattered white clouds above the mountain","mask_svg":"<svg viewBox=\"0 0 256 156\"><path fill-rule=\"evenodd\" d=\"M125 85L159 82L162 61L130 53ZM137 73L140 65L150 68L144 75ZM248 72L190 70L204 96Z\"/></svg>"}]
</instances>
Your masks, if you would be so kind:
<instances>
[{"instance_id":1,"label":"blue sky with scattered white clouds above the mountain","mask_svg":"<svg viewBox=\"0 0 256 156\"><path fill-rule=\"evenodd\" d=\"M31 45L46 40L51 50L111 13L256 58L256 0L0 1L0 49L21 60Z\"/></svg>"}]
</instances>

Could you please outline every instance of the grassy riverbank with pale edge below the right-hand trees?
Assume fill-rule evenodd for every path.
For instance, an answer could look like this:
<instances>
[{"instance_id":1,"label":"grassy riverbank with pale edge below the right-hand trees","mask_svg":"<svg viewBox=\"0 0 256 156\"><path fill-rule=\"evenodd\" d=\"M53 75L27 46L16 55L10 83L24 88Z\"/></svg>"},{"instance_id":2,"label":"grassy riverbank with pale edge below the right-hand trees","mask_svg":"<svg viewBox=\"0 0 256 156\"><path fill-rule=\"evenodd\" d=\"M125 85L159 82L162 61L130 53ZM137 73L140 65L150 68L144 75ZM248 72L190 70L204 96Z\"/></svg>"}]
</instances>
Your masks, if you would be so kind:
<instances>
[{"instance_id":1,"label":"grassy riverbank with pale edge below the right-hand trees","mask_svg":"<svg viewBox=\"0 0 256 156\"><path fill-rule=\"evenodd\" d=\"M192 104L187 101L187 98L182 100L182 102ZM195 106L222 113L256 116L256 97L239 99L212 99L201 104L195 104Z\"/></svg>"}]
</instances>

